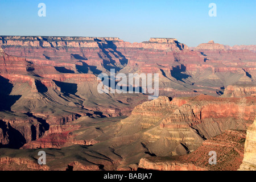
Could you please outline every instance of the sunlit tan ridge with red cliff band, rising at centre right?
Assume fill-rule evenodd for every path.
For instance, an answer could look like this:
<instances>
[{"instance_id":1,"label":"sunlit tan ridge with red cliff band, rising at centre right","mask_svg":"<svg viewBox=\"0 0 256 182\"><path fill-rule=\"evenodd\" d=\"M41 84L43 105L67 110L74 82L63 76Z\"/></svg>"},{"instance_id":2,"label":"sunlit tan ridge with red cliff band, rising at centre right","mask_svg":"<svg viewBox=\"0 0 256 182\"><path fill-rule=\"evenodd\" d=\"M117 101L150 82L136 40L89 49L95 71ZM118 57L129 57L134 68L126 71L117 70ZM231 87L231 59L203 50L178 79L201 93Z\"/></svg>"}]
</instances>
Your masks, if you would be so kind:
<instances>
[{"instance_id":1,"label":"sunlit tan ridge with red cliff band, rising at centre right","mask_svg":"<svg viewBox=\"0 0 256 182\"><path fill-rule=\"evenodd\" d=\"M187 154L205 139L227 129L246 130L255 116L255 97L159 97L144 102L123 119L117 136L141 133L148 150L157 156Z\"/></svg>"}]
</instances>

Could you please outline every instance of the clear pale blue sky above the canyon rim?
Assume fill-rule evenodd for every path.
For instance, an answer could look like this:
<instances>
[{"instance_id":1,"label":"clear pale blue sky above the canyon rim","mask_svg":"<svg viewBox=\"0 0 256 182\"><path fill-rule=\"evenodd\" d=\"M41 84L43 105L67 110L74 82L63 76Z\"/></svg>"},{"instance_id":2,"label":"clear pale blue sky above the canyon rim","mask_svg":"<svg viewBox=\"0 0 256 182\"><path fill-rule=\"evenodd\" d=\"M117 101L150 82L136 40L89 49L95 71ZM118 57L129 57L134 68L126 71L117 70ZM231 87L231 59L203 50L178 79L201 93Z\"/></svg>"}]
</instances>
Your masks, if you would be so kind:
<instances>
[{"instance_id":1,"label":"clear pale blue sky above the canyon rim","mask_svg":"<svg viewBox=\"0 0 256 182\"><path fill-rule=\"evenodd\" d=\"M38 16L41 2L46 17ZM216 17L208 15L212 2ZM0 0L0 35L164 37L187 46L213 39L233 46L256 44L255 22L255 0Z\"/></svg>"}]
</instances>

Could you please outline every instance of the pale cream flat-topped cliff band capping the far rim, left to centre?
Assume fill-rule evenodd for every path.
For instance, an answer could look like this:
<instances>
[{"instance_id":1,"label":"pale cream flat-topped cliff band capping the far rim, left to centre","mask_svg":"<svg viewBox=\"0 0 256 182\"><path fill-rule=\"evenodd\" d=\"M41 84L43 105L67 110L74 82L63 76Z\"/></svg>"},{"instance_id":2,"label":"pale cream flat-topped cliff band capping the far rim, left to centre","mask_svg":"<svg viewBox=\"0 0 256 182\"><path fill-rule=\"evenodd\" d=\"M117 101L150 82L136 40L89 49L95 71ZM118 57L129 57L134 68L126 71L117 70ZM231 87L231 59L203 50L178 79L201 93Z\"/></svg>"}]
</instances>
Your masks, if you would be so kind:
<instances>
[{"instance_id":1,"label":"pale cream flat-topped cliff band capping the far rim, left to centre","mask_svg":"<svg viewBox=\"0 0 256 182\"><path fill-rule=\"evenodd\" d=\"M31 46L31 47L97 47L99 42L113 42L118 47L146 49L188 49L185 44L173 38L150 38L142 43L124 42L117 37L78 37L78 36L0 36L2 46Z\"/></svg>"}]
</instances>

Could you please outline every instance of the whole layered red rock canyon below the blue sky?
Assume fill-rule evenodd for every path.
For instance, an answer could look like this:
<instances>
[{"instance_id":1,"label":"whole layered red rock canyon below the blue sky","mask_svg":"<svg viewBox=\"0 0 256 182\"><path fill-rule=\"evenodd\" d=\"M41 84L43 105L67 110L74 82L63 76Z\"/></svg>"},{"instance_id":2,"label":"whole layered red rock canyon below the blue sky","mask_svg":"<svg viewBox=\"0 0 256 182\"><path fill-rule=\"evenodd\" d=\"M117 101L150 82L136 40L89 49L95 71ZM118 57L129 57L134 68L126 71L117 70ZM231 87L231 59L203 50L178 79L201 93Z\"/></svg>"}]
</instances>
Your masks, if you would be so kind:
<instances>
[{"instance_id":1,"label":"whole layered red rock canyon below the blue sky","mask_svg":"<svg viewBox=\"0 0 256 182\"><path fill-rule=\"evenodd\" d=\"M110 69L159 97L99 93ZM255 170L255 81L255 45L0 36L0 170Z\"/></svg>"}]
</instances>

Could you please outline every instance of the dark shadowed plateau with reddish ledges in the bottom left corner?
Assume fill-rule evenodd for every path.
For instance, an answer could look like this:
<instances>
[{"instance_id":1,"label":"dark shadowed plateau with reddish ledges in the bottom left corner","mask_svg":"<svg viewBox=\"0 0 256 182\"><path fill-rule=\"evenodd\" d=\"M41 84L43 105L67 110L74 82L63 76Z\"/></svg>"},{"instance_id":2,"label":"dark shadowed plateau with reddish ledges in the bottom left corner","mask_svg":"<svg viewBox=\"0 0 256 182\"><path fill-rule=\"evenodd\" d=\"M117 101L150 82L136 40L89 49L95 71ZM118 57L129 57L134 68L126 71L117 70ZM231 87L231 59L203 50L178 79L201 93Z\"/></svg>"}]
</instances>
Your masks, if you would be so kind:
<instances>
[{"instance_id":1,"label":"dark shadowed plateau with reddish ledges in the bottom left corner","mask_svg":"<svg viewBox=\"0 0 256 182\"><path fill-rule=\"evenodd\" d=\"M101 171L114 170L120 162L120 157L112 154L109 148L97 151L94 146L79 146L55 148L40 148L38 150L1 148L0 170L44 170L44 171ZM38 152L46 152L46 164L38 164Z\"/></svg>"}]
</instances>

